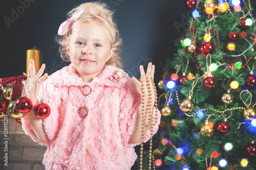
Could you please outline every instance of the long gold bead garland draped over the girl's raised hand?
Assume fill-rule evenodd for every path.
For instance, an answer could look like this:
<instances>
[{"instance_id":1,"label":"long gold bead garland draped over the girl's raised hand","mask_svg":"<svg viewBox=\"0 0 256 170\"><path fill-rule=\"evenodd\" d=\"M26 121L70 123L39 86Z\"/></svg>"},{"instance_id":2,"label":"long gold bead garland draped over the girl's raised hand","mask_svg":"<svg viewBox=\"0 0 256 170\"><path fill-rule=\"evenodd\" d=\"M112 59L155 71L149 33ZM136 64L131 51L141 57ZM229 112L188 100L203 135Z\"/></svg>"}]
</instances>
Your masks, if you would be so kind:
<instances>
[{"instance_id":1,"label":"long gold bead garland draped over the girl's raised hand","mask_svg":"<svg viewBox=\"0 0 256 170\"><path fill-rule=\"evenodd\" d=\"M154 157L152 156L152 137L153 137L153 126L155 126L156 125L156 123L157 123L157 116L158 116L158 114L157 114L157 90L156 90L156 87L155 87L155 83L154 83L154 80L153 80L153 77L151 77L151 82L152 82L152 85L153 85L153 88L154 88L154 93L155 93L155 122L154 122L154 120L153 120L153 113L152 113L152 89L151 89L151 87L150 87L150 80L148 80L148 77L146 77L146 86L147 86L147 90L148 90L148 124L150 124L150 155L149 155L149 157L150 157L150 160L149 160L149 166L148 166L148 168L149 169L151 169L151 165L152 165L152 158L153 158L153 162L154 162ZM143 81L141 80L141 78L140 78L140 83L141 83L141 93L142 93L142 102L141 102L141 106L142 106L142 112L141 112L141 114L142 114L142 116L141 116L141 144L140 144L140 146L141 146L141 151L140 151L140 170L142 170L142 167L143 167L143 139L144 139L144 134L143 134L143 132L144 132L144 111L145 111L145 109L144 109L144 97L145 97L145 95L144 95L144 90L145 90L145 88L144 88L144 84L143 84ZM151 113L152 113L152 115L151 115ZM155 166L154 166L154 163L153 163L153 168L155 169Z\"/></svg>"}]
</instances>

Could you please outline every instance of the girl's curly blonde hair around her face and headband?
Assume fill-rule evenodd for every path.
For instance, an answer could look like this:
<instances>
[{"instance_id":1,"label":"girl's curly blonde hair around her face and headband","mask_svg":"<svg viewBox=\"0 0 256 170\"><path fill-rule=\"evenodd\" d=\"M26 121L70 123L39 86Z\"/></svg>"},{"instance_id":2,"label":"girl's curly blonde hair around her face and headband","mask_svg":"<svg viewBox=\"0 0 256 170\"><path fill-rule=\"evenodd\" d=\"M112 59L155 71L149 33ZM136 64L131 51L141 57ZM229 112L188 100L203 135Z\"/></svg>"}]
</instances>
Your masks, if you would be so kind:
<instances>
[{"instance_id":1,"label":"girl's curly blonde hair around her face and headband","mask_svg":"<svg viewBox=\"0 0 256 170\"><path fill-rule=\"evenodd\" d=\"M67 44L70 42L70 35L72 35L73 28L76 23L84 23L84 22L97 22L100 23L108 32L109 32L109 41L110 44L114 48L114 54L112 57L109 59L108 62L106 62L106 65L112 65L118 68L122 68L122 58L120 57L121 55L121 47L122 47L122 39L120 38L120 34L117 30L117 25L113 21L113 14L114 12L111 11L105 3L99 3L99 2L93 2L93 3L84 3L80 4L79 6L75 7L72 9L68 14L67 14L67 20L70 19L74 13L79 12L81 10L87 11L87 13L84 13L80 15L69 27L69 31L67 34L59 36L56 36L56 42L59 44L59 52L61 55L61 58L64 61L70 61L70 57L68 55L67 51ZM109 23L110 27L113 30L113 35L114 35L114 42L112 39L112 33L109 25L105 23L103 20L97 18L95 15L100 16L103 18L106 22ZM69 35L69 36L68 36Z\"/></svg>"}]
</instances>

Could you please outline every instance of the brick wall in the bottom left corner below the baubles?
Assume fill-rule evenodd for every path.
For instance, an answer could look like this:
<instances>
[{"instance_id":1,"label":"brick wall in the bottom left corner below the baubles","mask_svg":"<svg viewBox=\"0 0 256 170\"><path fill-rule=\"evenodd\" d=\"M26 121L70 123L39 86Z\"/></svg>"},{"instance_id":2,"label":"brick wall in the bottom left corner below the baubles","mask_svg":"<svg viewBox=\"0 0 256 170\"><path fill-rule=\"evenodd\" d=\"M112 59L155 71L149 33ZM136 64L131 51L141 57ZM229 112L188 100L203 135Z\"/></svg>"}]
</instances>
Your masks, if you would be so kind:
<instances>
[{"instance_id":1,"label":"brick wall in the bottom left corner below the baubles","mask_svg":"<svg viewBox=\"0 0 256 170\"><path fill-rule=\"evenodd\" d=\"M42 147L27 136L16 121L8 115L8 152L5 152L4 118L0 118L0 169L43 170L42 159L46 147ZM8 153L8 166L5 166Z\"/></svg>"}]
</instances>

